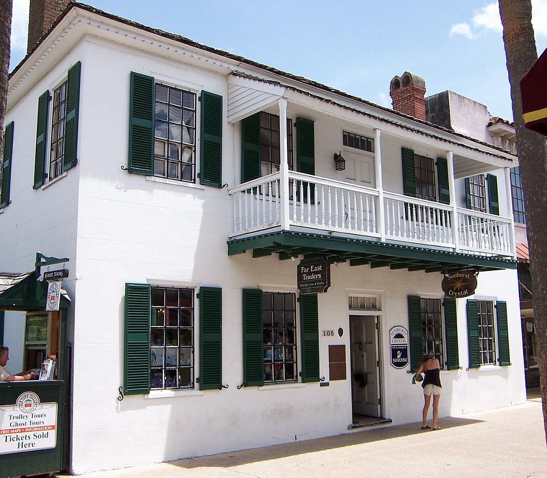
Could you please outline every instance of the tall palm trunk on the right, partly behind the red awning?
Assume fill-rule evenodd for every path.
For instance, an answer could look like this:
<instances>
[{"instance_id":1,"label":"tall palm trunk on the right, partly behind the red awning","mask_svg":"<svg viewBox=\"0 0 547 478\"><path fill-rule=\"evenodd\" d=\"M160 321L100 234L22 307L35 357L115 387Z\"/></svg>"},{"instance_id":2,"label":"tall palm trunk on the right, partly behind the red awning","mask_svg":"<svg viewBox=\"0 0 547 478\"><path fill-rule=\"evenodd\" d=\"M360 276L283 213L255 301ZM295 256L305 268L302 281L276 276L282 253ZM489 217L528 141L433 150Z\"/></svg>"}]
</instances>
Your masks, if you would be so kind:
<instances>
[{"instance_id":1,"label":"tall palm trunk on the right, partly behind the red awning","mask_svg":"<svg viewBox=\"0 0 547 478\"><path fill-rule=\"evenodd\" d=\"M525 192L528 246L534 291L543 422L547 437L547 145L545 137L525 128L520 79L537 60L531 0L499 0L503 42Z\"/></svg>"}]
</instances>

